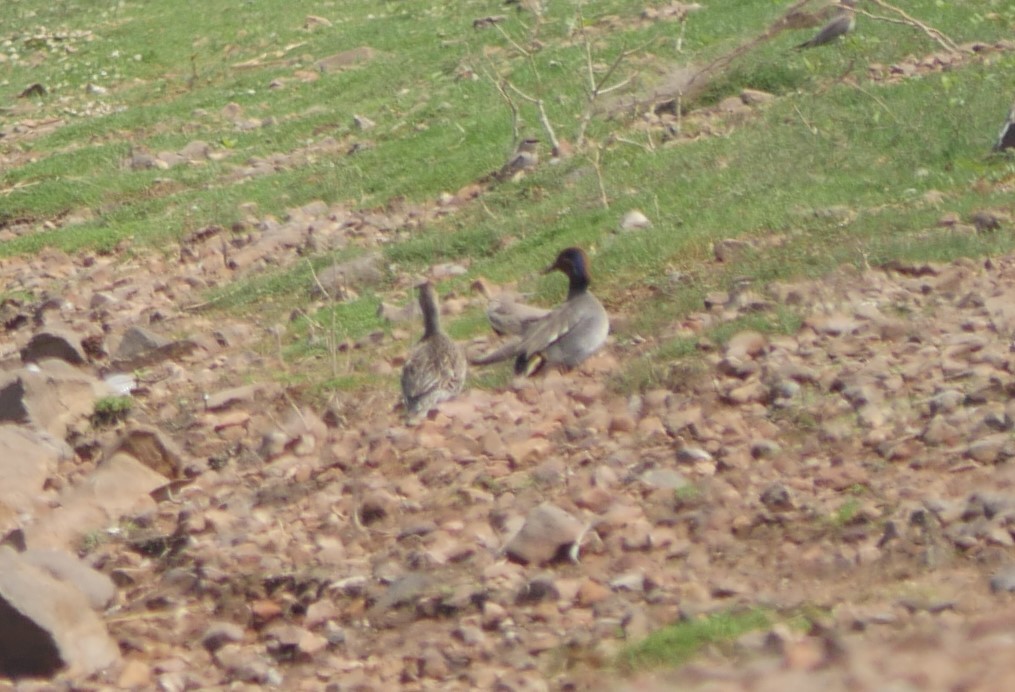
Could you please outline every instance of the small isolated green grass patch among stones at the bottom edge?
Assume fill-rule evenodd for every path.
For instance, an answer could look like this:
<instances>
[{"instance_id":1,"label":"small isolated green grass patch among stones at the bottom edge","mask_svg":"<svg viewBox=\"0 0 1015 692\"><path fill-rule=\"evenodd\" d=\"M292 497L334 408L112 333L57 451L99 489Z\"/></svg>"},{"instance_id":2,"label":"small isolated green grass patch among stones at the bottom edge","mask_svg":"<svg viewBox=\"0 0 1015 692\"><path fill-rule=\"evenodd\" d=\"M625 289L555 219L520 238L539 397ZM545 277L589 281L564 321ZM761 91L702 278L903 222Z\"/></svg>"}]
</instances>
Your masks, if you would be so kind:
<instances>
[{"instance_id":1,"label":"small isolated green grass patch among stones at the bottom edge","mask_svg":"<svg viewBox=\"0 0 1015 692\"><path fill-rule=\"evenodd\" d=\"M767 627L770 617L761 610L727 611L678 622L626 646L617 656L621 670L636 672L683 665L706 646L722 647L740 635Z\"/></svg>"}]
</instances>

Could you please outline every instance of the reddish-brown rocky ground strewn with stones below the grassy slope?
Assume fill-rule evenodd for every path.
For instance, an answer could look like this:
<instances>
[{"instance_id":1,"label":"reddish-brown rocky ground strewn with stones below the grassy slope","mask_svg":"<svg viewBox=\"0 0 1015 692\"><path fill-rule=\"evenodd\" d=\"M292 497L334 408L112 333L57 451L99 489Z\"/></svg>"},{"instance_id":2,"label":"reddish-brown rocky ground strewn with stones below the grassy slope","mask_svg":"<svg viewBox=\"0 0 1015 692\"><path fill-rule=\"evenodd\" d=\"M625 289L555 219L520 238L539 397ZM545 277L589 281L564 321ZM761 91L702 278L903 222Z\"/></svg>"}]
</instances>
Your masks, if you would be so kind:
<instances>
[{"instance_id":1,"label":"reddish-brown rocky ground strewn with stones below the grassy slope","mask_svg":"<svg viewBox=\"0 0 1015 692\"><path fill-rule=\"evenodd\" d=\"M4 260L32 296L3 305L0 388L0 596L26 616L4 636L36 642L29 672L166 690L1015 675L1015 258L710 295L661 338L783 308L803 326L701 339L699 358L659 364L666 389L627 397L607 377L646 344L611 342L406 427L394 386L301 405L263 329L192 309L235 267L295 257L309 225L321 243L384 232L320 205L262 220L239 264L215 229L167 258ZM410 331L336 350L404 352ZM92 417L126 389L126 420ZM662 625L747 607L813 626L675 673L613 665Z\"/></svg>"}]
</instances>

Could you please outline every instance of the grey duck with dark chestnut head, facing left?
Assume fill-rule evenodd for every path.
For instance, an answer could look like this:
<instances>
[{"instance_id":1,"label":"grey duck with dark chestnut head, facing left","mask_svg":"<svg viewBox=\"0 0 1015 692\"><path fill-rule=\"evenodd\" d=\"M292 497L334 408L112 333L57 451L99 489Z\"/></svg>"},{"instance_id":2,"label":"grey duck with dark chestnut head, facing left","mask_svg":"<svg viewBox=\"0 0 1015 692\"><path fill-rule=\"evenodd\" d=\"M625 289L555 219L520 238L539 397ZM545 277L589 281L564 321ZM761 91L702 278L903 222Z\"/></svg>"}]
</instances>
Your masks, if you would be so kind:
<instances>
[{"instance_id":1,"label":"grey duck with dark chestnut head, facing left","mask_svg":"<svg viewBox=\"0 0 1015 692\"><path fill-rule=\"evenodd\" d=\"M515 373L529 376L547 364L571 369L602 348L610 333L610 319L589 290L589 266L581 248L560 251L543 273L559 271L567 277L564 302L529 322L515 341L473 362L485 365L515 358Z\"/></svg>"}]
</instances>

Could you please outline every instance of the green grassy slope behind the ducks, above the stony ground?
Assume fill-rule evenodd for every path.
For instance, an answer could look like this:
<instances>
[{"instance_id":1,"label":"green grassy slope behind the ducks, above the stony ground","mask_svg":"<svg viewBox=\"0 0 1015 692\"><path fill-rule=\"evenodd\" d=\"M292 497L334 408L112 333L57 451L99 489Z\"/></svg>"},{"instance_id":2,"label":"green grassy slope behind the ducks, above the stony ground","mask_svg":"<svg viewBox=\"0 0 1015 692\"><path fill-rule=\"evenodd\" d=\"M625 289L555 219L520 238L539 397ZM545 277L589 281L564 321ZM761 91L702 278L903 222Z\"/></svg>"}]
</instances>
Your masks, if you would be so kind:
<instances>
[{"instance_id":1,"label":"green grassy slope behind the ducks, above the stony ground","mask_svg":"<svg viewBox=\"0 0 1015 692\"><path fill-rule=\"evenodd\" d=\"M36 99L31 117L58 116L67 124L21 151L5 150L17 154L19 163L0 171L0 223L83 209L92 216L0 244L0 254L44 246L109 249L125 237L164 247L194 228L229 223L248 202L261 213L278 214L316 199L361 207L400 195L430 200L495 168L512 148L511 113L489 75L507 77L544 98L557 134L574 136L586 101L583 20L598 73L620 51L636 49L621 62L616 79L631 77L646 88L674 65L706 62L760 33L786 3L707 6L688 21L681 52L677 24L636 20L644 5L550 3L538 29L541 49L527 57L513 42L532 45L531 18L511 10L502 31L475 30L474 17L501 9L483 0L207 0L187 9L172 0L113 9L84 0L2 3L6 52L18 56L0 66L0 105L13 102L38 81L50 93ZM916 0L906 9L958 42L1005 38L1015 28L1015 10L1000 0ZM332 25L306 28L311 14ZM52 49L26 41L79 28L89 29L91 39L51 41ZM1009 250L1006 234L956 235L935 229L935 222L946 210L966 214L1011 204L1010 193L997 183L1010 179L1015 166L1011 159L988 160L985 152L1015 91L1015 57L996 55L985 64L883 85L867 80L867 64L891 64L938 48L908 27L863 17L842 45L803 54L788 50L801 36L806 32L790 31L760 46L706 93L719 99L753 86L782 96L728 136L662 147L658 135L650 142L624 119L594 119L589 135L600 147L609 208L601 202L591 157L580 152L390 247L388 259L418 270L468 257L472 271L453 287L479 274L521 279L539 299L551 301L559 297L559 280L536 278L534 269L559 248L583 245L595 252L597 291L613 308L631 309L645 299L646 291L628 290L632 286L665 288L652 298L654 309L639 307L634 322L651 333L660 319L671 321L696 307L704 292L727 287L734 277L787 279L819 275L840 263ZM358 46L380 55L310 83L294 77L323 57ZM31 61L37 50L40 59ZM236 67L251 60L262 65ZM463 78L470 73L478 78ZM838 79L843 74L857 84ZM273 79L284 80L283 88L269 89ZM109 92L88 94L88 83ZM89 101L114 112L74 115ZM220 115L230 101L246 117L272 117L275 124L240 131ZM519 107L523 133L541 134L534 109ZM377 123L368 134L374 148L242 184L220 181L251 156L290 151L327 136L364 137L353 127L356 114ZM612 135L627 143L611 141ZM195 139L210 142L221 160L170 170L133 171L122 164L131 147L175 150ZM943 203L930 204L931 191L942 193ZM855 219L838 225L814 214L834 207L852 210ZM645 211L653 227L616 234L617 220L632 208ZM704 264L715 239L773 235L783 238L777 248L732 266ZM516 241L501 250L507 237ZM692 280L666 286L663 277L672 269ZM293 288L307 286L308 274L302 266L239 282L229 288L227 304L244 309L256 301L262 309L279 295L291 307ZM377 329L376 301L367 295L340 306L342 333ZM467 316L452 329L468 336L484 327ZM306 355L302 349L293 353Z\"/></svg>"}]
</instances>

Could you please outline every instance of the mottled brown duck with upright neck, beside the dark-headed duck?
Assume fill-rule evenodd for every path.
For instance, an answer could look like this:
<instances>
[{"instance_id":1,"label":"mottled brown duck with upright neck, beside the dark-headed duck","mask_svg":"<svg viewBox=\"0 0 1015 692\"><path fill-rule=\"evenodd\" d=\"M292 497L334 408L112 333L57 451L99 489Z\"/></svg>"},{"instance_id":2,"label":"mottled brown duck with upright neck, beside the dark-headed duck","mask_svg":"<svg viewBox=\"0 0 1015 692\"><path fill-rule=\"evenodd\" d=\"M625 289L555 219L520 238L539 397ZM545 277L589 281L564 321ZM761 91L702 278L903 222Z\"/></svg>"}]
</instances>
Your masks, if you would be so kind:
<instances>
[{"instance_id":1,"label":"mottled brown duck with upright neck, beside the dark-headed duck","mask_svg":"<svg viewBox=\"0 0 1015 692\"><path fill-rule=\"evenodd\" d=\"M436 290L425 281L418 286L423 336L402 367L402 403L408 422L416 421L465 387L468 361L462 348L441 327Z\"/></svg>"}]
</instances>

